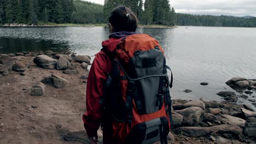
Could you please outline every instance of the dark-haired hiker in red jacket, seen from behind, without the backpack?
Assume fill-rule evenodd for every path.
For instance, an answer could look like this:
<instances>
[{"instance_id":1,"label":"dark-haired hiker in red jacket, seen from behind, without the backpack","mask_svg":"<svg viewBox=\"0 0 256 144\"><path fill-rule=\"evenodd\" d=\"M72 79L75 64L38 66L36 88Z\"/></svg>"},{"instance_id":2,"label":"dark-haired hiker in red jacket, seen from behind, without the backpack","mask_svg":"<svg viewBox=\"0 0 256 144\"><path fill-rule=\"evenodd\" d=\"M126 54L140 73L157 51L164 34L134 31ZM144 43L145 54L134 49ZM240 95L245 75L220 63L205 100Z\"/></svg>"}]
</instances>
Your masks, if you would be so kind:
<instances>
[{"instance_id":1,"label":"dark-haired hiker in red jacket, seen from behind, without the backpack","mask_svg":"<svg viewBox=\"0 0 256 144\"><path fill-rule=\"evenodd\" d=\"M109 39L102 42L104 51L100 51L95 56L88 76L86 91L86 112L83 115L84 127L92 143L98 139L97 130L100 128L103 118L103 105L100 104L103 95L104 85L107 75L112 69L113 52L116 49L119 39L131 34L136 34L138 20L132 11L120 6L110 13L109 17ZM109 143L103 132L103 143Z\"/></svg>"}]
</instances>

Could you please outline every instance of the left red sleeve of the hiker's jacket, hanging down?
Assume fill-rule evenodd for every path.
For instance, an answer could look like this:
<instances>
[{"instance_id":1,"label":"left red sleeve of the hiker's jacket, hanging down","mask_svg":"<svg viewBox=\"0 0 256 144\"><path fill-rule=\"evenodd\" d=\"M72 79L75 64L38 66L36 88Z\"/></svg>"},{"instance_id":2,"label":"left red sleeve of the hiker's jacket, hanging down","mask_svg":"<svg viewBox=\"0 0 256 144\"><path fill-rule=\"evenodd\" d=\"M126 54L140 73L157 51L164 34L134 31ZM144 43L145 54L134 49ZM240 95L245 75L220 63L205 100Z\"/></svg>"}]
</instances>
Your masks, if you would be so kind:
<instances>
[{"instance_id":1,"label":"left red sleeve of the hiker's jacket, hanging down","mask_svg":"<svg viewBox=\"0 0 256 144\"><path fill-rule=\"evenodd\" d=\"M84 128L88 136L96 136L103 116L100 104L108 74L108 57L101 51L91 65L86 88L86 112L83 115Z\"/></svg>"}]
</instances>

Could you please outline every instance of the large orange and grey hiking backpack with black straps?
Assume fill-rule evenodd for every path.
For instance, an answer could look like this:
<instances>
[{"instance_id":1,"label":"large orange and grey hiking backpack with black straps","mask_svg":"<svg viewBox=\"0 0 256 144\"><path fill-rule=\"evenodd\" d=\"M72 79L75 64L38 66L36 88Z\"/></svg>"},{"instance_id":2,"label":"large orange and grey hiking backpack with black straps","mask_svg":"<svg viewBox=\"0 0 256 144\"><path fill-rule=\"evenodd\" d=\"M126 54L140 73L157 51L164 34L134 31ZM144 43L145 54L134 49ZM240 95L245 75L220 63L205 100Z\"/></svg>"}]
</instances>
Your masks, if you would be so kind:
<instances>
[{"instance_id":1,"label":"large orange and grey hiking backpack with black straps","mask_svg":"<svg viewBox=\"0 0 256 144\"><path fill-rule=\"evenodd\" d=\"M164 50L150 35L120 39L100 101L103 136L108 130L120 143L167 143L172 127L167 68Z\"/></svg>"}]
</instances>

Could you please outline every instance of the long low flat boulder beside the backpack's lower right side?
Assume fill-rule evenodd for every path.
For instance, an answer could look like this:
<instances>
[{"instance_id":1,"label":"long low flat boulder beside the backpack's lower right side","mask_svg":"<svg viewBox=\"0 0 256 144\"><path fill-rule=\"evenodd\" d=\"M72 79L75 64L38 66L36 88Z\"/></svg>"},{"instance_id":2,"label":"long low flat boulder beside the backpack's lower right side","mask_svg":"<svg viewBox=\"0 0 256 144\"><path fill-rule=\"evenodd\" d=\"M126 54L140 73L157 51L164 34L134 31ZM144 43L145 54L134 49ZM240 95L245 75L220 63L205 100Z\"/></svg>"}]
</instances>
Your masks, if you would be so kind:
<instances>
[{"instance_id":1,"label":"long low flat boulder beside the backpack's lower right side","mask_svg":"<svg viewBox=\"0 0 256 144\"><path fill-rule=\"evenodd\" d=\"M185 136L191 137L206 136L213 132L213 130L205 127L180 127L175 130L178 133L182 133Z\"/></svg>"}]
</instances>

